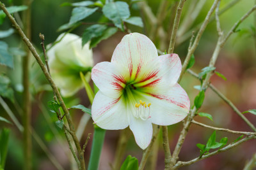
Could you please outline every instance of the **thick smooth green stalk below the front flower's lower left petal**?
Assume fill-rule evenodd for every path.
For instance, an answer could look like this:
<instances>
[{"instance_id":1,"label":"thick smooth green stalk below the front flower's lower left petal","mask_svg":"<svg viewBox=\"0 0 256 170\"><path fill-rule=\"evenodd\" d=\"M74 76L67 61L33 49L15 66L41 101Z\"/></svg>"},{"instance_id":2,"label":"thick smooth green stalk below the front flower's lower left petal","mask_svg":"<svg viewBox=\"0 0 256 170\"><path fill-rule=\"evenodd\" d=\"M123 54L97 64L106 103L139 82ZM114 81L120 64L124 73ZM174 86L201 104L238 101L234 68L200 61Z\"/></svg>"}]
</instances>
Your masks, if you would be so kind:
<instances>
[{"instance_id":1,"label":"thick smooth green stalk below the front flower's lower left petal","mask_svg":"<svg viewBox=\"0 0 256 170\"><path fill-rule=\"evenodd\" d=\"M88 170L97 170L99 168L100 153L104 143L105 134L106 130L101 129L97 125L94 125L92 151L90 155Z\"/></svg>"}]
</instances>

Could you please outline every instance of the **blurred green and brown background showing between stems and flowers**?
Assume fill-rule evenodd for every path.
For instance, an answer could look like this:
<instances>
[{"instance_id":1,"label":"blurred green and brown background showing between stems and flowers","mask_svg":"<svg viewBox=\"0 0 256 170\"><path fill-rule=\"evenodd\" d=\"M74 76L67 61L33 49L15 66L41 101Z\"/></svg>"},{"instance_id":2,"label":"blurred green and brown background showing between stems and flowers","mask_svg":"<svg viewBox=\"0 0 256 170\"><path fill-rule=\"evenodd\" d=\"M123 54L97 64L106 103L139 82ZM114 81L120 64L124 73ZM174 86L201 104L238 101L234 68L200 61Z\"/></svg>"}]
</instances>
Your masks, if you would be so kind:
<instances>
[{"instance_id":1,"label":"blurred green and brown background showing between stems and flowers","mask_svg":"<svg viewBox=\"0 0 256 170\"><path fill-rule=\"evenodd\" d=\"M6 2L6 1L4 1ZM61 6L64 2L77 2L73 1L61 1L61 0L34 0L32 3L32 39L31 41L37 47L37 51L41 53L40 47L40 38L38 38L39 32L45 35L45 44L52 43L61 34L56 30L63 24L66 24L70 18L72 7L71 6ZM129 2L129 1L127 1ZM196 1L187 1L182 12L182 20L186 17L186 12L189 11L189 6L193 5L193 2ZM159 1L149 0L147 1L148 5L152 8L154 14L157 13L159 8ZM168 8L166 17L163 21L163 29L166 32L169 28L170 18L172 18L172 4L175 1L168 1ZM196 18L195 23L191 25L191 28L188 29L185 33L191 34L191 31L195 30L197 24L200 24L213 1L207 1L204 4L204 8ZM223 8L230 1L221 2L220 8ZM8 2L6 2L8 4ZM12 4L20 5L21 1L13 1ZM230 10L223 13L220 17L221 28L225 33L227 33L232 25L234 25L239 18L241 18L246 11L250 10L255 4L254 0L241 0L236 3ZM128 25L129 29L132 32L140 32L148 35L150 32L150 20L143 15L143 12L140 10L140 7L137 3L134 3L131 6L131 13L133 16L141 16L143 18L145 27L142 29L140 27ZM97 22L100 19L102 13L96 12L90 17L86 18L84 22ZM248 17L243 24L239 26L239 32L232 34L230 39L228 39L227 44L221 50L218 60L216 62L216 71L224 74L227 80L223 80L220 77L214 75L211 78L211 83L216 86L225 96L227 96L230 101L232 101L240 111L246 111L250 109L256 109L256 36L255 36L255 22L256 18L251 15ZM8 20L4 21L4 24L1 25L1 30L10 28L11 24ZM84 24L72 31L73 33L81 36L84 29L88 25ZM254 27L254 30L252 29ZM253 32L254 31L254 32ZM127 34L122 31L118 31L111 38L102 41L96 48L93 48L93 60L96 64L101 61L110 61L113 50L115 50L116 45L120 42L122 37ZM183 36L183 35L182 35ZM216 46L218 35L216 32L216 22L211 22L200 40L200 44L196 49L195 55L195 65L191 68L196 73L200 73L200 70L207 66L209 59L211 58L212 52ZM169 41L168 34L166 34L166 39ZM9 38L3 39L8 42L9 46L20 46L23 48L24 45L20 43L20 38L17 34L13 34ZM158 48L161 48L162 51L168 49L168 41L166 41L165 46L159 46L160 41L163 41L160 38L156 38L154 43ZM175 53L178 53L180 59L183 61L188 52L189 39L180 43L179 37L177 39L177 46L175 46ZM12 80L12 87L15 90L15 103L12 103L8 99L5 99L6 103L12 109L15 116L19 118L20 116L20 104L22 104L22 71L21 71L21 60L22 56L15 56L15 66L13 69L9 69L4 66L0 66L0 71L7 73L7 75ZM52 114L47 108L47 101L52 99L51 87L47 83L42 71L39 69L38 65L35 63L35 60L31 59L31 76L30 76L30 92L32 96L32 122L31 125L37 132L37 134L42 138L47 148L51 153L58 159L58 162L65 167L65 169L70 169L69 158L66 154L68 150L67 141L64 138L63 131L58 129L54 122L56 122L56 115ZM92 83L92 82L91 82ZM191 103L195 99L195 96L198 94L198 90L194 89L195 85L200 85L200 81L196 80L189 73L184 75L180 85L188 93ZM65 103L67 106L73 106L76 104L83 104L84 106L90 108L90 102L86 96L86 92L82 89L76 94L76 96L65 98ZM208 89L205 93L205 101L200 109L201 112L210 113L213 117L214 122L205 118L205 117L195 117L195 120L202 122L207 125L212 125L215 127L223 127L232 129L235 131L252 131L248 125L246 125L239 116L234 113L234 111L228 106L224 101L220 99L211 89ZM71 111L72 118L75 122L75 125L78 124L82 115L84 114L79 110ZM8 115L0 106L0 115L10 120ZM45 116L46 115L46 116ZM246 118L252 122L253 125L256 125L256 116L250 113L245 114ZM45 117L50 118L50 123L54 127L54 131L58 132L58 136L52 132L49 122ZM11 136L8 147L8 157L6 160L7 170L11 169L20 169L23 164L23 151L22 151L22 134L18 131L17 127L10 124L5 124L0 122L0 129L3 127L8 127L11 129ZM177 139L179 138L179 133L182 129L182 122L175 125L170 125L169 129L169 141L170 148L173 150ZM113 162L116 144L118 141L118 136L122 131L107 131L106 138L104 141L104 146L102 150L102 155L100 159L99 169L111 169L110 164ZM200 155L199 149L196 147L196 143L205 144L207 139L212 134L212 130L199 127L198 125L191 125L189 129L188 136L184 142L184 146L180 152L179 159L186 161L194 159ZM81 143L84 143L87 134L93 134L93 121L89 120L86 124L86 129L83 133ZM127 134L129 135L129 133ZM125 157L127 155L132 155L137 157L140 161L143 151L136 145L134 137L130 134L129 143L127 145L127 150L125 152ZM229 134L227 132L217 132L216 138L219 141L221 138L227 137L228 142L234 141L239 135ZM157 155L157 165L156 169L164 169L164 152L163 146L161 145L162 138L159 136L157 139L159 145L159 152ZM86 164L88 164L88 159L90 155L90 148L92 145L92 138L88 142L88 146L85 151ZM64 147L63 147L64 146ZM65 148L65 149L63 149ZM65 151L66 150L66 151ZM253 153L256 152L256 143L255 140L247 141L242 145L236 146L232 150L227 152L220 153L211 157L210 159L201 160L195 164L182 167L180 169L243 169L244 164L247 160L251 159ZM125 159L124 157L124 159ZM34 169L56 169L51 161L47 158L45 153L42 151L40 146L33 139L33 167ZM147 169L147 167L145 168Z\"/></svg>"}]
</instances>

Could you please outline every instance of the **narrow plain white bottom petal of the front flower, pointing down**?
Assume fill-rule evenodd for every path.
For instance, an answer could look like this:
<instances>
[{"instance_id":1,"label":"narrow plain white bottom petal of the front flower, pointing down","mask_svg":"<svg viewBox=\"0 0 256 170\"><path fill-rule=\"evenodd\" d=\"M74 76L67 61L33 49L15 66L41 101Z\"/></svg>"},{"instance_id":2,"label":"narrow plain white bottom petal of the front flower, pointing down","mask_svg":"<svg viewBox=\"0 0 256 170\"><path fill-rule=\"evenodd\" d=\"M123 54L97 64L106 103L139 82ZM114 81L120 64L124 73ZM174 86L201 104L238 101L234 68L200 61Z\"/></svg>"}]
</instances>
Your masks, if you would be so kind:
<instances>
[{"instance_id":1,"label":"narrow plain white bottom petal of the front flower, pointing down","mask_svg":"<svg viewBox=\"0 0 256 170\"><path fill-rule=\"evenodd\" d=\"M152 123L148 120L144 121L141 118L135 118L133 115L130 115L130 117L131 122L129 127L134 134L135 141L141 149L145 150L152 138Z\"/></svg>"}]
</instances>

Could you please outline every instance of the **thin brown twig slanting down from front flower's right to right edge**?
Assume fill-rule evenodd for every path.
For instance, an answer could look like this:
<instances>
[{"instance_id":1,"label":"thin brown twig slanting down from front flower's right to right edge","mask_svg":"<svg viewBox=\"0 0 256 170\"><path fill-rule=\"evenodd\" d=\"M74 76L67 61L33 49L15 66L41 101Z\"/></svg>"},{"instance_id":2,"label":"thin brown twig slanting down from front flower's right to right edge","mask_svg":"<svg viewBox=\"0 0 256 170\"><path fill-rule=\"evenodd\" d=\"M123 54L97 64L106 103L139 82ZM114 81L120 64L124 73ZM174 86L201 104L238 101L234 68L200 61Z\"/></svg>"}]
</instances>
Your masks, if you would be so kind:
<instances>
[{"instance_id":1,"label":"thin brown twig slanting down from front flower's right to right edge","mask_svg":"<svg viewBox=\"0 0 256 170\"><path fill-rule=\"evenodd\" d=\"M193 72L191 69L188 69L187 70L188 73L190 73L191 75L195 76L196 78L200 79L198 77L198 74L196 74L195 72ZM251 129L253 131L256 132L256 128L255 126L246 118L244 117L244 115L241 113L241 111L239 111L237 109L237 107L232 103L232 101L230 101L226 96L224 96L218 89L216 89L216 87L214 87L214 85L212 84L209 84L209 87L212 89L212 91L214 91L219 97L221 97L221 99L223 99L223 101L225 101L225 103L227 103L234 111L235 113L237 113L237 115L239 115L239 117L241 117L244 122L246 122L246 124L251 127Z\"/></svg>"}]
</instances>

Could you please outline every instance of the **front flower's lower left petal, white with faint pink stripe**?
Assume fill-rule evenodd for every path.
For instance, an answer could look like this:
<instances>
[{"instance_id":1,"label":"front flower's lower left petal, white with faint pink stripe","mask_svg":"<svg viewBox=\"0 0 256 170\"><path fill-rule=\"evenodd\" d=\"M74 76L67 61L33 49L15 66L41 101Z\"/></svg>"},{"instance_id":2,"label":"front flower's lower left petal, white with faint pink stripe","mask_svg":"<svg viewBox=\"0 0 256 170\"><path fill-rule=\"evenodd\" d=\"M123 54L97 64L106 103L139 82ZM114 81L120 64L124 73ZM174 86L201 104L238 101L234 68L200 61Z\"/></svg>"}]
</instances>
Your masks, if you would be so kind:
<instances>
[{"instance_id":1,"label":"front flower's lower left petal, white with faint pink stripe","mask_svg":"<svg viewBox=\"0 0 256 170\"><path fill-rule=\"evenodd\" d=\"M92 119L102 129L125 129L129 121L124 99L113 99L97 92L92 104Z\"/></svg>"}]
</instances>

